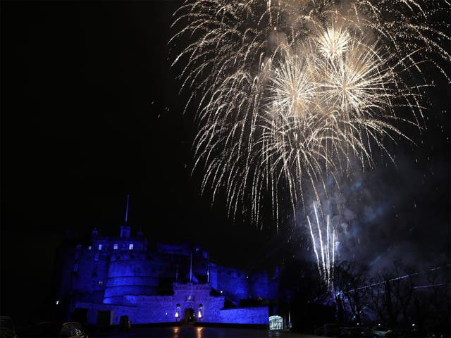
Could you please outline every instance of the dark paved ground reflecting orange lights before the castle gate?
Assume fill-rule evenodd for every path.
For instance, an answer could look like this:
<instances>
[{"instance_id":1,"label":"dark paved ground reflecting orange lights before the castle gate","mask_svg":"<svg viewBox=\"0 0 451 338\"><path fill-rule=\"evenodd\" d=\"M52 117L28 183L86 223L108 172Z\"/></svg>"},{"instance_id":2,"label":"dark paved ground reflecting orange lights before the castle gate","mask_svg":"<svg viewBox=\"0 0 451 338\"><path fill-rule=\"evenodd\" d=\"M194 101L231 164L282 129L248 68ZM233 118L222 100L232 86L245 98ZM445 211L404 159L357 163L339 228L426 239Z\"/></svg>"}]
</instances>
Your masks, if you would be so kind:
<instances>
[{"instance_id":1,"label":"dark paved ground reflecting orange lights before the castle gate","mask_svg":"<svg viewBox=\"0 0 451 338\"><path fill-rule=\"evenodd\" d=\"M309 334L294 334L269 330L235 329L224 327L195 327L190 325L180 327L135 327L130 332L111 334L89 334L89 338L316 338Z\"/></svg>"}]
</instances>

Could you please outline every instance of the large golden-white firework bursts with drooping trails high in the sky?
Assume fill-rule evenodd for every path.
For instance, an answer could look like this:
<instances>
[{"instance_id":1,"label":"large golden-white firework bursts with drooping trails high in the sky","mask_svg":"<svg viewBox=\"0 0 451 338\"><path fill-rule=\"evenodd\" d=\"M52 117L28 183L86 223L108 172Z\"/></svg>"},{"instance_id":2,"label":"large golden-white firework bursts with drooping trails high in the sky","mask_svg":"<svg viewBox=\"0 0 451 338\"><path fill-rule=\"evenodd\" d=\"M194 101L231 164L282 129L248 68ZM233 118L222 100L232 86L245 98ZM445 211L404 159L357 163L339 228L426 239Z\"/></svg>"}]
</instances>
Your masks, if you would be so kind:
<instances>
[{"instance_id":1,"label":"large golden-white firework bursts with drooping trails high in the sky","mask_svg":"<svg viewBox=\"0 0 451 338\"><path fill-rule=\"evenodd\" d=\"M259 222L270 195L295 216L324 177L373 165L397 127L424 118L426 63L449 77L447 0L192 0L175 13L183 88L197 105L194 168ZM418 79L424 79L419 82ZM401 108L401 109L400 109ZM390 156L391 157L391 156ZM268 194L266 194L268 193ZM326 192L327 193L327 192ZM252 199L250 208L246 202ZM334 258L335 256L333 256Z\"/></svg>"}]
</instances>

